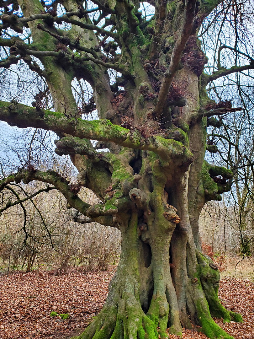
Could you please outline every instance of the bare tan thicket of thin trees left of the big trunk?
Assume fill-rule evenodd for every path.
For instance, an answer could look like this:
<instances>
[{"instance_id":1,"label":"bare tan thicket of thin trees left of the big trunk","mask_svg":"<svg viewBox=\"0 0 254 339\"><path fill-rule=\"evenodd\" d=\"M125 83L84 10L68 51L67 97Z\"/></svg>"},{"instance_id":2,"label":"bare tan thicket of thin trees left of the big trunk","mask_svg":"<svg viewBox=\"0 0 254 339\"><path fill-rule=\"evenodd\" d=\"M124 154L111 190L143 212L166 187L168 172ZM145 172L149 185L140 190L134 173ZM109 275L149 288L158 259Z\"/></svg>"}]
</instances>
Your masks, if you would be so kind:
<instances>
[{"instance_id":1,"label":"bare tan thicket of thin trees left of the big trunk","mask_svg":"<svg viewBox=\"0 0 254 339\"><path fill-rule=\"evenodd\" d=\"M62 173L71 172L68 165L66 169ZM81 188L79 196L90 204L98 202L90 193ZM96 222L75 223L65 198L54 187L49 190L39 181L11 183L0 195L0 270L7 265L7 274L15 268L31 272L35 266L39 270L46 265L58 274L70 265L86 271L115 264L120 252L119 230Z\"/></svg>"}]
</instances>

